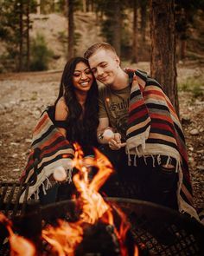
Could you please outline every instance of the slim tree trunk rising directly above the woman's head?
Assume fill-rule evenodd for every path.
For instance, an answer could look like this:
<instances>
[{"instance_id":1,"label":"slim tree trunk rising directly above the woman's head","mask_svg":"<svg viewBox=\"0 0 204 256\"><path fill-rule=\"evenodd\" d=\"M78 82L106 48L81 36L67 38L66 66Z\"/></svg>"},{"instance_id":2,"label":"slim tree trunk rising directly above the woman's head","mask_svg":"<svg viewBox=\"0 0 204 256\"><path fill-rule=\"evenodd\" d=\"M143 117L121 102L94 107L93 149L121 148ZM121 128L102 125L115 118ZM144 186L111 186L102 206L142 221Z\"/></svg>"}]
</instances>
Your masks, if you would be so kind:
<instances>
[{"instance_id":1,"label":"slim tree trunk rising directly above the woman's head","mask_svg":"<svg viewBox=\"0 0 204 256\"><path fill-rule=\"evenodd\" d=\"M73 58L73 43L74 43L74 24L73 24L73 1L67 0L67 14L68 14L68 52L67 58Z\"/></svg>"}]
</instances>

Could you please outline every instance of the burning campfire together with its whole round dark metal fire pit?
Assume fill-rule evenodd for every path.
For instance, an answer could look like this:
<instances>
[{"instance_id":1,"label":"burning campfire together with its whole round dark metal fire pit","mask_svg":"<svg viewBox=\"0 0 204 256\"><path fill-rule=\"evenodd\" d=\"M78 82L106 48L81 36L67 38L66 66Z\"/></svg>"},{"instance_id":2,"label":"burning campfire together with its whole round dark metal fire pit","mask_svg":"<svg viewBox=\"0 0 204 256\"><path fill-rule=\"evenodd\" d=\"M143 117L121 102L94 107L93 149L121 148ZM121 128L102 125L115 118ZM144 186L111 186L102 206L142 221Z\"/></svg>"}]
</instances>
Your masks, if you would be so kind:
<instances>
[{"instance_id":1,"label":"burning campfire together with its whole round dark metal fire pit","mask_svg":"<svg viewBox=\"0 0 204 256\"><path fill-rule=\"evenodd\" d=\"M77 144L75 149L79 197L46 207L23 205L12 221L0 213L0 255L203 255L199 222L150 202L103 198L99 189L114 172L112 164L97 149L94 157L84 157ZM66 178L62 167L55 177ZM0 195L3 201L4 189Z\"/></svg>"}]
</instances>

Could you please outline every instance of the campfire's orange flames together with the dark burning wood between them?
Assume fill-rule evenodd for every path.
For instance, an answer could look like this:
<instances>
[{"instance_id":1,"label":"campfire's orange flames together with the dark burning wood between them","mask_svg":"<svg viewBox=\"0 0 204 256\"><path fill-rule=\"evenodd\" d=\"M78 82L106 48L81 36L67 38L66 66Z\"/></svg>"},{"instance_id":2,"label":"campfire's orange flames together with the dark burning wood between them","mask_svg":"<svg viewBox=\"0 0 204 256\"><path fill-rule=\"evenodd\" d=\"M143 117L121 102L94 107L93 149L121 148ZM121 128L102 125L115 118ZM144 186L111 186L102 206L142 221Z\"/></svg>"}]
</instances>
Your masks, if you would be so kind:
<instances>
[{"instance_id":1,"label":"campfire's orange flames together with the dark burning wood between them","mask_svg":"<svg viewBox=\"0 0 204 256\"><path fill-rule=\"evenodd\" d=\"M138 247L133 240L129 241L129 246L126 246L130 224L125 214L116 205L106 202L99 194L99 188L113 172L112 164L98 149L94 149L94 157L86 158L78 144L75 144L75 149L73 167L78 169L78 173L73 176L73 182L80 194L76 200L78 220L59 219L55 225L45 225L38 238L41 240L39 252L39 247L35 245L35 242L16 234L11 221L1 213L0 222L8 231L11 255L23 255L23 252L27 252L30 256L39 255L43 246L45 251L48 251L48 255L86 255L88 243L92 244L91 240L98 234L100 242L107 245L104 248L102 246L100 252L97 251L99 245L94 245L95 248L90 248L91 251L86 253L138 255ZM92 167L98 170L90 180L89 171ZM56 172L55 176L61 179L64 174L61 168L59 170L59 174Z\"/></svg>"}]
</instances>

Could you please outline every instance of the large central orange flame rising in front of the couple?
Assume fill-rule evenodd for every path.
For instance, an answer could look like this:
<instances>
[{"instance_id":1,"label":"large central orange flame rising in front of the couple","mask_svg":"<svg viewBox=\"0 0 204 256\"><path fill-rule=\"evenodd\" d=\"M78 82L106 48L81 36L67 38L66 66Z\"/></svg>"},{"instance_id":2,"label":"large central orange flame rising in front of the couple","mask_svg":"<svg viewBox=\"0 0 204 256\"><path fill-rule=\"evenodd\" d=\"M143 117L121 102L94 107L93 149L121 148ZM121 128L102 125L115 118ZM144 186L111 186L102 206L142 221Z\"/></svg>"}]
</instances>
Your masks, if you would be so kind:
<instances>
[{"instance_id":1,"label":"large central orange flame rising in front of the couple","mask_svg":"<svg viewBox=\"0 0 204 256\"><path fill-rule=\"evenodd\" d=\"M84 158L83 151L79 144L74 144L75 156L73 166L79 170L79 173L73 176L73 182L78 192L80 193L80 206L82 213L80 220L75 223L67 223L59 220L59 226L48 226L42 231L42 238L54 247L54 252L59 255L74 255L76 246L83 239L83 223L94 224L97 220L114 226L114 233L120 244L121 255L128 255L127 248L124 246L125 235L130 228L127 218L124 213L114 207L121 219L119 229L114 224L113 207L110 207L102 196L99 194L99 188L103 186L105 181L113 172L113 167L110 161L101 154L98 149L94 149L95 157ZM92 181L88 179L89 167L98 167L98 173L95 174ZM138 248L135 246L134 256L138 255Z\"/></svg>"}]
</instances>

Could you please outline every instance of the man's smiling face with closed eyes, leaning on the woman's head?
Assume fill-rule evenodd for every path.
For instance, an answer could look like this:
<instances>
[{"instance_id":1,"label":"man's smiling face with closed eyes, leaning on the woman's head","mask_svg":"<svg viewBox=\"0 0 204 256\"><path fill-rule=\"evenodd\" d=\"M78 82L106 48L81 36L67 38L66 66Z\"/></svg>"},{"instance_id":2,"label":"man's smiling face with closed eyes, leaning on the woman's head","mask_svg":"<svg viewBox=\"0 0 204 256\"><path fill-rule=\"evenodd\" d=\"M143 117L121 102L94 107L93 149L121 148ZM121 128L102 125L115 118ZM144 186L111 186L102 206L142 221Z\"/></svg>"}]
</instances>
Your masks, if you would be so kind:
<instances>
[{"instance_id":1,"label":"man's smiling face with closed eyes, leaning on the woman's head","mask_svg":"<svg viewBox=\"0 0 204 256\"><path fill-rule=\"evenodd\" d=\"M117 80L119 58L112 51L98 49L88 59L92 74L99 82L113 85Z\"/></svg>"}]
</instances>

